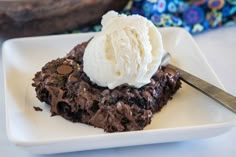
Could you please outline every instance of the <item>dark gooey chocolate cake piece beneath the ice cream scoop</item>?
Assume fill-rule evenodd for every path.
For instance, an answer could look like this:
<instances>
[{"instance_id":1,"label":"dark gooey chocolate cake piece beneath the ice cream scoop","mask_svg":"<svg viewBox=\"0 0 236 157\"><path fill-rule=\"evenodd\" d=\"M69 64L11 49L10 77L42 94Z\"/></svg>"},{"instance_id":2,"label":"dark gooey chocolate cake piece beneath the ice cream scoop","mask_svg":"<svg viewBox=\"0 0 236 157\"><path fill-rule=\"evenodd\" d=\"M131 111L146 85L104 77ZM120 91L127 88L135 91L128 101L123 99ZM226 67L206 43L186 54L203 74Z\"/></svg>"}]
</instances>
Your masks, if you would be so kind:
<instances>
[{"instance_id":1,"label":"dark gooey chocolate cake piece beneath the ice cream scoop","mask_svg":"<svg viewBox=\"0 0 236 157\"><path fill-rule=\"evenodd\" d=\"M177 71L160 67L151 83L138 89L128 85L99 87L83 72L87 43L50 61L33 78L37 98L51 106L52 115L106 132L142 130L181 86Z\"/></svg>"}]
</instances>

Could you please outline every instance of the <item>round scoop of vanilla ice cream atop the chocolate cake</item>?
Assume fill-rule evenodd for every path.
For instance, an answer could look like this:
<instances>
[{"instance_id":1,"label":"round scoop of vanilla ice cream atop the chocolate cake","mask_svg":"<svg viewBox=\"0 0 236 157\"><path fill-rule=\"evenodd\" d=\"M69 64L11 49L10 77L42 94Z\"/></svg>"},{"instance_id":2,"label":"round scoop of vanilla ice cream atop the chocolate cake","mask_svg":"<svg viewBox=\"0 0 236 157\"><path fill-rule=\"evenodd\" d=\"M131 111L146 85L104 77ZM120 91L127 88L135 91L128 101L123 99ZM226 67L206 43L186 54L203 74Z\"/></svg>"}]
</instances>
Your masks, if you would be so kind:
<instances>
[{"instance_id":1,"label":"round scoop of vanilla ice cream atop the chocolate cake","mask_svg":"<svg viewBox=\"0 0 236 157\"><path fill-rule=\"evenodd\" d=\"M110 11L103 16L101 32L85 49L84 72L102 87L140 88L150 82L163 53L161 34L150 21Z\"/></svg>"}]
</instances>

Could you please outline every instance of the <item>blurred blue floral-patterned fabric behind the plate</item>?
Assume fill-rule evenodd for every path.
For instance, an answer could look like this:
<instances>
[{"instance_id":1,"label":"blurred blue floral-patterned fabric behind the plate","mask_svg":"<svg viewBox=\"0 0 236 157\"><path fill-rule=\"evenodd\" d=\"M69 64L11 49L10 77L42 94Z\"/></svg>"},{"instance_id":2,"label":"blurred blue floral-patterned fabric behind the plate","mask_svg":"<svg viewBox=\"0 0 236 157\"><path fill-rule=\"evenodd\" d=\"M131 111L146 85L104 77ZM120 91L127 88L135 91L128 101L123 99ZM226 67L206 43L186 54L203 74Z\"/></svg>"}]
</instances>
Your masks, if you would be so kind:
<instances>
[{"instance_id":1,"label":"blurred blue floral-patterned fabric behind the plate","mask_svg":"<svg viewBox=\"0 0 236 157\"><path fill-rule=\"evenodd\" d=\"M236 24L236 0L131 0L121 13L140 14L157 27L183 27L191 34L197 34ZM92 25L70 32L100 29L100 25Z\"/></svg>"}]
</instances>

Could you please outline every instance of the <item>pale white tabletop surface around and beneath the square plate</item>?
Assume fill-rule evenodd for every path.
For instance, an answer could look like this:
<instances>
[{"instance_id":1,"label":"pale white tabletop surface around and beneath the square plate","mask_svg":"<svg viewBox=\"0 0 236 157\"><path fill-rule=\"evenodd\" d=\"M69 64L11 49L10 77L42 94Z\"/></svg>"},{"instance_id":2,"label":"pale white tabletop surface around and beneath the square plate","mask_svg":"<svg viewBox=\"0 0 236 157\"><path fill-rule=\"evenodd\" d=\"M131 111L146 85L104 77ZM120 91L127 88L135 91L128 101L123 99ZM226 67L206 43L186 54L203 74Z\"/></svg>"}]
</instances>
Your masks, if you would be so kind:
<instances>
[{"instance_id":1,"label":"pale white tabletop surface around and beneath the square plate","mask_svg":"<svg viewBox=\"0 0 236 157\"><path fill-rule=\"evenodd\" d=\"M199 47L215 70L225 89L236 95L236 26L221 28L194 36ZM0 47L2 41L0 40ZM0 51L1 53L1 51ZM0 62L1 57L0 57ZM86 144L86 143L85 143ZM10 143L6 136L5 104L3 95L2 65L0 63L0 154L3 157L34 157L29 152ZM125 148L113 148L75 153L46 155L49 157L106 157L106 156L165 156L165 157L209 157L236 156L236 127L229 132L208 139L176 143L153 144Z\"/></svg>"}]
</instances>

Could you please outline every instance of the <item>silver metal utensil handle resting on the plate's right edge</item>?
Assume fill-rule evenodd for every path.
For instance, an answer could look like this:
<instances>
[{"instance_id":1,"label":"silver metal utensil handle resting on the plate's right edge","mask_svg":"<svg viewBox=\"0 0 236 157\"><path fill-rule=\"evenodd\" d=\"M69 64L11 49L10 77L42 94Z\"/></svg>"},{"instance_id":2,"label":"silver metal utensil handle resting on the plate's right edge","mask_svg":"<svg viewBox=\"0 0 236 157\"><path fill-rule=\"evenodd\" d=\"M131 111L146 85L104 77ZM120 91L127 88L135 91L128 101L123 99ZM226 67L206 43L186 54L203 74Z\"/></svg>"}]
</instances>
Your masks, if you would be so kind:
<instances>
[{"instance_id":1,"label":"silver metal utensil handle resting on the plate's right edge","mask_svg":"<svg viewBox=\"0 0 236 157\"><path fill-rule=\"evenodd\" d=\"M180 73L180 79L190 86L211 97L226 108L236 113L236 97L225 92L224 90L174 66L168 64L168 67L177 70Z\"/></svg>"}]
</instances>

